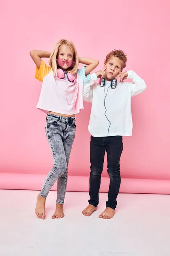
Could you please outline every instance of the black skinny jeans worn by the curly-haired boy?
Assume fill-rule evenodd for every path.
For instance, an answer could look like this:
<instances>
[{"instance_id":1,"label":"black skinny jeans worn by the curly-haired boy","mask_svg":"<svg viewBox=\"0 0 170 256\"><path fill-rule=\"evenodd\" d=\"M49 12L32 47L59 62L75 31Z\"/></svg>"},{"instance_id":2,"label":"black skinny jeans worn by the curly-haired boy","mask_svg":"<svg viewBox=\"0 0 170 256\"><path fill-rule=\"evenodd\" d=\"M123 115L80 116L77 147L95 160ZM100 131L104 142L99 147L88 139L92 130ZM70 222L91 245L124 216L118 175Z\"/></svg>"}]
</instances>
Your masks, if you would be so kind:
<instances>
[{"instance_id":1,"label":"black skinny jeans worn by the curly-haired boy","mask_svg":"<svg viewBox=\"0 0 170 256\"><path fill-rule=\"evenodd\" d=\"M110 185L108 191L108 201L106 207L116 208L117 195L120 188L120 157L123 150L122 136L109 137L93 137L90 143L90 200L89 204L97 207L99 204L99 189L101 174L103 171L103 163L105 151L108 160L108 175L110 177Z\"/></svg>"}]
</instances>

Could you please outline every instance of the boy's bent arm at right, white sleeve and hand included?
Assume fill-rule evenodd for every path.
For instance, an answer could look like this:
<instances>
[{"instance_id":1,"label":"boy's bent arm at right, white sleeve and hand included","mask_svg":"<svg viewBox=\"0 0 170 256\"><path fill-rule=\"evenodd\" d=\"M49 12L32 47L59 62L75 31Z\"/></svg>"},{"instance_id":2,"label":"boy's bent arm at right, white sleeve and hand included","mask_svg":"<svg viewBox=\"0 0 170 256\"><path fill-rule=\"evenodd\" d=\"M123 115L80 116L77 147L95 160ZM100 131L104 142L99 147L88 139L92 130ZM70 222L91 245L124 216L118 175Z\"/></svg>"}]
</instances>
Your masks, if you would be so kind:
<instances>
[{"instance_id":1,"label":"boy's bent arm at right, white sleeve and hand included","mask_svg":"<svg viewBox=\"0 0 170 256\"><path fill-rule=\"evenodd\" d=\"M125 82L125 84L131 88L131 96L142 93L146 89L146 84L144 80L140 76L138 76L133 70L120 73L116 78L118 77L120 77L121 82L128 78L132 79L133 83Z\"/></svg>"}]
</instances>

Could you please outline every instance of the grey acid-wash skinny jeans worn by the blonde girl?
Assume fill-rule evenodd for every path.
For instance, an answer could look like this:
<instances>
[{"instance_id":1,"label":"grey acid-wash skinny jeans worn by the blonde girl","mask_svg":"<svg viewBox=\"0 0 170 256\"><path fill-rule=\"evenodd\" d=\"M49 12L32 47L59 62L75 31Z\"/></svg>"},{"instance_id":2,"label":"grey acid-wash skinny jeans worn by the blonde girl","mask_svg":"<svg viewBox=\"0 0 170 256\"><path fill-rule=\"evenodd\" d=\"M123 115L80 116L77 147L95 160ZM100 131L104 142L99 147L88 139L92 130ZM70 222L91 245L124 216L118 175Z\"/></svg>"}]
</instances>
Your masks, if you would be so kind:
<instances>
[{"instance_id":1,"label":"grey acid-wash skinny jeans worn by the blonde girl","mask_svg":"<svg viewBox=\"0 0 170 256\"><path fill-rule=\"evenodd\" d=\"M57 204L63 204L67 187L68 160L76 131L75 117L48 114L45 131L53 155L54 166L45 179L40 196L46 198L58 179Z\"/></svg>"}]
</instances>

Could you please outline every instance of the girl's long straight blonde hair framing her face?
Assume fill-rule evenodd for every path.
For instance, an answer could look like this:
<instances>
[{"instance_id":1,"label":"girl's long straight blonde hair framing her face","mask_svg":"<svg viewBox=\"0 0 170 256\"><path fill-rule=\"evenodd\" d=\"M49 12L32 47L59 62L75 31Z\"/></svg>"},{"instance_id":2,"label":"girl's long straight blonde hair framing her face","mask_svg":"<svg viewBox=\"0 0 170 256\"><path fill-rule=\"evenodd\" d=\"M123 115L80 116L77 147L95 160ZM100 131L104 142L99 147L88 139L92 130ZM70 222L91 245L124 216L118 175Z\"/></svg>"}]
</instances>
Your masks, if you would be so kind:
<instances>
[{"instance_id":1,"label":"girl's long straight blonde hair framing her face","mask_svg":"<svg viewBox=\"0 0 170 256\"><path fill-rule=\"evenodd\" d=\"M58 58L58 53L59 53L59 47L65 45L71 49L73 52L73 61L75 61L74 67L68 68L68 72L75 74L77 72L78 66L79 66L79 57L77 54L76 47L74 46L73 42L65 39L61 39L57 42L57 44L54 47L53 52L51 53L51 56L49 58L49 65L53 70L54 76L57 76L57 63L56 63L56 58Z\"/></svg>"}]
</instances>

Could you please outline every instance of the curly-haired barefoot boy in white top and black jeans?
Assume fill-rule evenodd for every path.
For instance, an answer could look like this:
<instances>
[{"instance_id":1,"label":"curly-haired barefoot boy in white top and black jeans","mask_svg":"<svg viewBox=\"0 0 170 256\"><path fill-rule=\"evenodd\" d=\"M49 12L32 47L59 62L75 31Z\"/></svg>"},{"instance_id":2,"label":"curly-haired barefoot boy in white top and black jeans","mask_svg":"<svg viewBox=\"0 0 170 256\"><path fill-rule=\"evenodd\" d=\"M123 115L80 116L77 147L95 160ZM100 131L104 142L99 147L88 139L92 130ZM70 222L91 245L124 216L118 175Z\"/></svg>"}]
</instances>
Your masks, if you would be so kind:
<instances>
[{"instance_id":1,"label":"curly-haired barefoot boy in white top and black jeans","mask_svg":"<svg viewBox=\"0 0 170 256\"><path fill-rule=\"evenodd\" d=\"M106 209L99 218L113 218L120 187L120 157L123 150L122 136L132 135L131 97L146 89L146 84L133 70L121 73L126 67L127 57L122 50L110 52L105 59L104 69L91 74L84 86L83 98L92 103L88 125L90 142L90 200L82 211L90 216L99 203L99 188L105 151L107 152L110 185ZM99 83L94 81L101 77ZM115 78L120 77L120 82ZM123 82L132 79L133 83Z\"/></svg>"}]
</instances>

